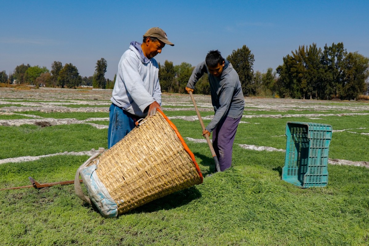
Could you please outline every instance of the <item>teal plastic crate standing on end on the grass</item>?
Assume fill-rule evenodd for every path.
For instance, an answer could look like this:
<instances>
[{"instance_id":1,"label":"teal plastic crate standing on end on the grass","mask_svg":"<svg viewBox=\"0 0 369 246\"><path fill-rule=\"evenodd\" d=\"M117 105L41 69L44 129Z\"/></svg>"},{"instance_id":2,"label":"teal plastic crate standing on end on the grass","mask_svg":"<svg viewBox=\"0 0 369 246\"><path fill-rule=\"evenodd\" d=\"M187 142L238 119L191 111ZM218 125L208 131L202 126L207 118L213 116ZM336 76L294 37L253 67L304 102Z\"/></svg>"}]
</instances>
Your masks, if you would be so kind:
<instances>
[{"instance_id":1,"label":"teal plastic crate standing on end on the grass","mask_svg":"<svg viewBox=\"0 0 369 246\"><path fill-rule=\"evenodd\" d=\"M286 136L286 158L282 180L302 188L327 186L332 126L310 122L287 122Z\"/></svg>"}]
</instances>

